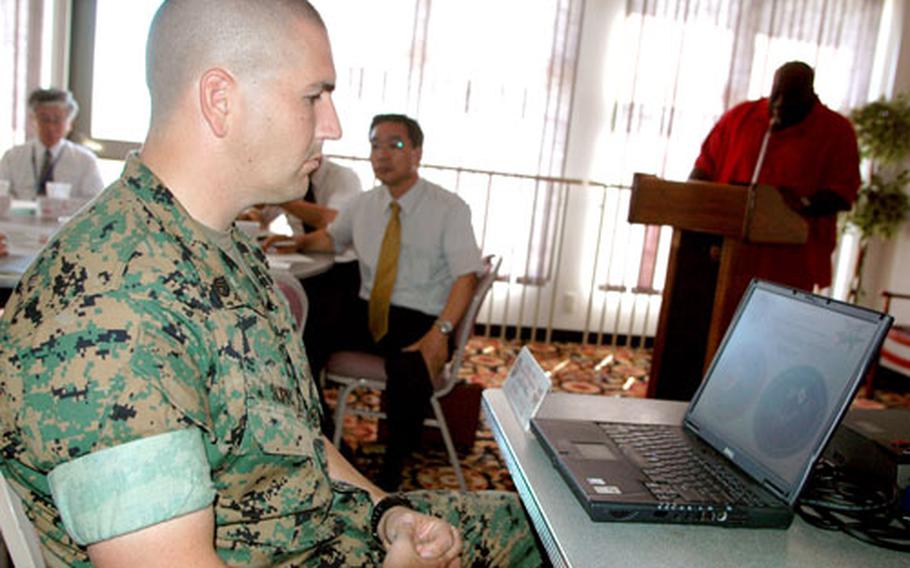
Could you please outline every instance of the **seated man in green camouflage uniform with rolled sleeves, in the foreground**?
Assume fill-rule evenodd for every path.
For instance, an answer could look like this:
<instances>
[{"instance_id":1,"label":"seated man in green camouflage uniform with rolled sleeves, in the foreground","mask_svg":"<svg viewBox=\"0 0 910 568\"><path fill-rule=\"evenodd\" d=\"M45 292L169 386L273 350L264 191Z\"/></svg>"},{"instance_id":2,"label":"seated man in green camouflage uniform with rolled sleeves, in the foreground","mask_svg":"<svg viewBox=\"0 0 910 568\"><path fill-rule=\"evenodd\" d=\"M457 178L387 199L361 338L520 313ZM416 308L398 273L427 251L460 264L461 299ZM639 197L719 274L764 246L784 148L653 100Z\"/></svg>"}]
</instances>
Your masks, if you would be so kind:
<instances>
[{"instance_id":1,"label":"seated man in green camouflage uniform with rolled sleeves, in the foreground","mask_svg":"<svg viewBox=\"0 0 910 568\"><path fill-rule=\"evenodd\" d=\"M298 196L341 134L318 14L168 0L149 44L140 155L0 320L2 472L48 564L539 564L512 494L384 506L320 434L290 313L231 226Z\"/></svg>"}]
</instances>

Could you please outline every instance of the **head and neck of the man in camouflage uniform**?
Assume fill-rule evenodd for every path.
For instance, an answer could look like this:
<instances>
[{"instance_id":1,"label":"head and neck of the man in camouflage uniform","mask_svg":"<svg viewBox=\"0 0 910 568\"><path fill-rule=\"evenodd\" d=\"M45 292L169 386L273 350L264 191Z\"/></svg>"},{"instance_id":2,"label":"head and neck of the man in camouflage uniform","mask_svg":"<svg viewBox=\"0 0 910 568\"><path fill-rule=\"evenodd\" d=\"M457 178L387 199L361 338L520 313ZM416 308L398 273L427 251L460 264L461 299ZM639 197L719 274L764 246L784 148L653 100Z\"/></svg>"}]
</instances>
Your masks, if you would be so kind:
<instances>
[{"instance_id":1,"label":"head and neck of the man in camouflage uniform","mask_svg":"<svg viewBox=\"0 0 910 568\"><path fill-rule=\"evenodd\" d=\"M167 0L146 58L140 158L209 227L301 197L341 136L332 48L305 0Z\"/></svg>"}]
</instances>

